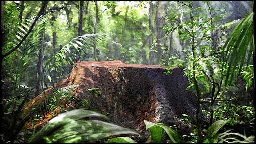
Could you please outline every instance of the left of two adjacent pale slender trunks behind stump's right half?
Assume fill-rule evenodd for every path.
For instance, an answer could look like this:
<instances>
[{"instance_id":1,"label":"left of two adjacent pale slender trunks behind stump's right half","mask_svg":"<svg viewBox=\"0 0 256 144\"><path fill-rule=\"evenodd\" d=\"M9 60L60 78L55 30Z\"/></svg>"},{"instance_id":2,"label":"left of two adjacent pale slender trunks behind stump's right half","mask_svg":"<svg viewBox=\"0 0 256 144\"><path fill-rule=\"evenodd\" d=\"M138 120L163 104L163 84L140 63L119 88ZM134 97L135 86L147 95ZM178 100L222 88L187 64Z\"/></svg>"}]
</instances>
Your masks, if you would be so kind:
<instances>
[{"instance_id":1,"label":"left of two adjacent pale slender trunks behind stump's right half","mask_svg":"<svg viewBox=\"0 0 256 144\"><path fill-rule=\"evenodd\" d=\"M149 36L149 60L150 64L153 64L153 50L152 50L152 44L153 44L153 25L152 25L152 20L153 20L153 4L152 1L149 1L149 28L150 28L150 36Z\"/></svg>"}]
</instances>

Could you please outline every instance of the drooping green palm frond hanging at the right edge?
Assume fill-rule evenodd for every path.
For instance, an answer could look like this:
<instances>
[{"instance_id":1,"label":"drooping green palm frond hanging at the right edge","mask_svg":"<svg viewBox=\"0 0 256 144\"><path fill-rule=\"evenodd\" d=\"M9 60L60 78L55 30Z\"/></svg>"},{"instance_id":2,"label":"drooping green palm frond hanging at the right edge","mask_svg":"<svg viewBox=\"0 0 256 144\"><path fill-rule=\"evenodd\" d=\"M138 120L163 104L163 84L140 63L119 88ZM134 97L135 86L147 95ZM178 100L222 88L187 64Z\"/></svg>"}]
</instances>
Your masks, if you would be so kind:
<instances>
[{"instance_id":1,"label":"drooping green palm frond hanging at the right edge","mask_svg":"<svg viewBox=\"0 0 256 144\"><path fill-rule=\"evenodd\" d=\"M245 62L246 54L247 65L254 50L254 37L253 37L253 15L252 12L249 16L244 18L239 25L231 33L226 41L223 50L225 50L225 60L223 67L227 68L227 76L225 84L231 83L234 78L234 69L239 65L239 72ZM231 76L229 77L229 75Z\"/></svg>"}]
</instances>

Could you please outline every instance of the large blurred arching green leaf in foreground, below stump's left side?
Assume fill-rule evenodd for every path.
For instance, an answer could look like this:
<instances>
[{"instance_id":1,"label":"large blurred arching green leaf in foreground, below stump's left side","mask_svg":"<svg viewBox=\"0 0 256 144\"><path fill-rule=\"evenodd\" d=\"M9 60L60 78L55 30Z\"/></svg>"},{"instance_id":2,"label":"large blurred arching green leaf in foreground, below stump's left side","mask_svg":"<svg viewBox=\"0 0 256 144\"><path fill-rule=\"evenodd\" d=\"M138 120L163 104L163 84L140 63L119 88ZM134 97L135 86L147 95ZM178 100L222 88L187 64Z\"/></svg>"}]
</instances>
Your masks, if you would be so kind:
<instances>
[{"instance_id":1,"label":"large blurred arching green leaf in foreground, below stump's left side","mask_svg":"<svg viewBox=\"0 0 256 144\"><path fill-rule=\"evenodd\" d=\"M122 134L138 135L132 129L105 122L106 120L109 120L106 116L93 111L72 110L54 117L29 142L81 143Z\"/></svg>"}]
</instances>

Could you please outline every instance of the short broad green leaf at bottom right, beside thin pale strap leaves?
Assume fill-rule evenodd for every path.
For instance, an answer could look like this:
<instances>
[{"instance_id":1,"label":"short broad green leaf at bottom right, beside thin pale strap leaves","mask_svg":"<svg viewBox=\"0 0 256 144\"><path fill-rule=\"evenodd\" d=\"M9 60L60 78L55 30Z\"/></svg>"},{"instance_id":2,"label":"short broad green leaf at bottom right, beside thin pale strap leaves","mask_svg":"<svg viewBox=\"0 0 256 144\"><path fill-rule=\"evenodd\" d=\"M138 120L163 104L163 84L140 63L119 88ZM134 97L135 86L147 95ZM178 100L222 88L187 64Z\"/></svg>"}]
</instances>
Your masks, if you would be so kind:
<instances>
[{"instance_id":1,"label":"short broad green leaf at bottom right, beside thin pale strap leaves","mask_svg":"<svg viewBox=\"0 0 256 144\"><path fill-rule=\"evenodd\" d=\"M224 121L224 120L218 120L216 122L214 122L210 127L209 129L207 130L207 133L206 133L206 136L208 138L210 137L214 137L217 132L219 131L219 129L221 127L223 127L225 124L227 123L227 121Z\"/></svg>"}]
</instances>

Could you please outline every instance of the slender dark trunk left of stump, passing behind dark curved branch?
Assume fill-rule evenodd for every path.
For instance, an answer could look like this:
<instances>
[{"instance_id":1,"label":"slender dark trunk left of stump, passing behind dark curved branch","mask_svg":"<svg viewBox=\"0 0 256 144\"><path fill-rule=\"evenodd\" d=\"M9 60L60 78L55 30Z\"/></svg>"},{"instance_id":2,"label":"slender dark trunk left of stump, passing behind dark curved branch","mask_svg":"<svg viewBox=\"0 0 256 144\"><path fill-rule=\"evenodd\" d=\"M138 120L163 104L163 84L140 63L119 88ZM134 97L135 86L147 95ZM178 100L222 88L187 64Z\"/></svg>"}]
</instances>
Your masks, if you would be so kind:
<instances>
[{"instance_id":1,"label":"slender dark trunk left of stump, passing behind dark curved branch","mask_svg":"<svg viewBox=\"0 0 256 144\"><path fill-rule=\"evenodd\" d=\"M46 14L46 8L42 12L42 16ZM38 61L37 61L37 84L36 84L36 95L40 94L41 88L41 76L42 76L42 69L44 63L44 43L45 43L45 30L43 29L40 33L40 45L39 45L39 54L38 54Z\"/></svg>"}]
</instances>

